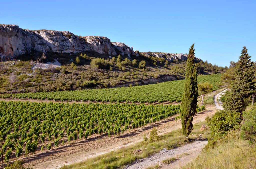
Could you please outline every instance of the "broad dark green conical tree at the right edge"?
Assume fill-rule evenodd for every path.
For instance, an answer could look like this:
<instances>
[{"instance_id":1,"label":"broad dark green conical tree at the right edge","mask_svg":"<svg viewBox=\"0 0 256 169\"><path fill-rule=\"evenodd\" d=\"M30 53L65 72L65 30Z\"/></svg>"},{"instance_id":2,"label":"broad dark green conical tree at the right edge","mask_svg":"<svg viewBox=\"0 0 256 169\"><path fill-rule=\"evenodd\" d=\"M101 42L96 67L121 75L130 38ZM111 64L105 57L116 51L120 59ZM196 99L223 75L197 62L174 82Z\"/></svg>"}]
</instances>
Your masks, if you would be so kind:
<instances>
[{"instance_id":1,"label":"broad dark green conical tree at the right edge","mask_svg":"<svg viewBox=\"0 0 256 169\"><path fill-rule=\"evenodd\" d=\"M231 91L223 104L225 110L243 112L247 106L246 99L255 90L255 63L250 58L244 46L235 67L235 79L231 83Z\"/></svg>"}]
</instances>

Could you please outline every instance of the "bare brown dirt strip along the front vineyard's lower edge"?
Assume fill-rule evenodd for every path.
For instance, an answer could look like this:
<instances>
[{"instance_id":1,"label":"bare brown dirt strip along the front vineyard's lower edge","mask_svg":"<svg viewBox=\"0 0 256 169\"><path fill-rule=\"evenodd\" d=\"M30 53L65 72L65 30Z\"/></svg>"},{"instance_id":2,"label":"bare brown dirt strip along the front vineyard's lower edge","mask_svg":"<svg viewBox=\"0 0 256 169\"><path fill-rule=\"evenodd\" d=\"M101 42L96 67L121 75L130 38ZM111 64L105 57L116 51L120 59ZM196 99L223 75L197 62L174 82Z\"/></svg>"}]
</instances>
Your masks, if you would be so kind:
<instances>
[{"instance_id":1,"label":"bare brown dirt strip along the front vineyard's lower edge","mask_svg":"<svg viewBox=\"0 0 256 169\"><path fill-rule=\"evenodd\" d=\"M40 101L41 102L41 101ZM205 117L215 114L217 109L213 106L206 107L206 111L196 114L193 123L205 120ZM33 168L59 168L62 165L82 162L88 158L98 156L110 151L142 141L144 133L148 136L151 129L156 127L158 133L164 134L181 128L180 120L175 121L175 116L144 127L127 131L124 134L109 138L107 134L94 135L88 139L71 141L71 144L64 144L58 148L52 148L44 152L37 151L35 154L24 156L19 160L24 161L26 167ZM12 159L12 161L17 159Z\"/></svg>"}]
</instances>

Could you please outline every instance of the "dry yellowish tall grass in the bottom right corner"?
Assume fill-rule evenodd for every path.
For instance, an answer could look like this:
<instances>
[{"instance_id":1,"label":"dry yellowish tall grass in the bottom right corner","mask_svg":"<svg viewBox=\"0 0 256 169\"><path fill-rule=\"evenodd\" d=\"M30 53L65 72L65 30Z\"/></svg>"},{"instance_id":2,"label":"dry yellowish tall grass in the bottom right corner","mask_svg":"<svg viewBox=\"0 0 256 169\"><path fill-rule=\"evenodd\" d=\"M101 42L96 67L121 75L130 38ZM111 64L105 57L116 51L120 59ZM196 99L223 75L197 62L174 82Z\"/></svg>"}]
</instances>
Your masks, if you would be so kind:
<instances>
[{"instance_id":1,"label":"dry yellowish tall grass in the bottom right corner","mask_svg":"<svg viewBox=\"0 0 256 169\"><path fill-rule=\"evenodd\" d=\"M240 132L234 131L208 148L194 161L180 168L256 168L256 149L240 139Z\"/></svg>"}]
</instances>

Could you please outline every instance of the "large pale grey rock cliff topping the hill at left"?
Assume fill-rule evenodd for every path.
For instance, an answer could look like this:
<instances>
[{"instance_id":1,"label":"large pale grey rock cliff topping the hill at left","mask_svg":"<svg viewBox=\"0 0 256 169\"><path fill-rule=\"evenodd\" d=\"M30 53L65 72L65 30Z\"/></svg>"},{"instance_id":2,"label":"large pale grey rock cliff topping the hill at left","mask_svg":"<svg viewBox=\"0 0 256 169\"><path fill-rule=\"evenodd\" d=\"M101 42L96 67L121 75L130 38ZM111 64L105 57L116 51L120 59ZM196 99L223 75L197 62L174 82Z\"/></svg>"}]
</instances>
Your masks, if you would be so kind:
<instances>
[{"instance_id":1,"label":"large pale grey rock cliff topping the hill at left","mask_svg":"<svg viewBox=\"0 0 256 169\"><path fill-rule=\"evenodd\" d=\"M37 52L78 53L95 51L100 54L134 55L134 51L123 43L111 43L99 36L81 37L68 31L24 30L17 25L0 24L0 57L15 57Z\"/></svg>"}]
</instances>

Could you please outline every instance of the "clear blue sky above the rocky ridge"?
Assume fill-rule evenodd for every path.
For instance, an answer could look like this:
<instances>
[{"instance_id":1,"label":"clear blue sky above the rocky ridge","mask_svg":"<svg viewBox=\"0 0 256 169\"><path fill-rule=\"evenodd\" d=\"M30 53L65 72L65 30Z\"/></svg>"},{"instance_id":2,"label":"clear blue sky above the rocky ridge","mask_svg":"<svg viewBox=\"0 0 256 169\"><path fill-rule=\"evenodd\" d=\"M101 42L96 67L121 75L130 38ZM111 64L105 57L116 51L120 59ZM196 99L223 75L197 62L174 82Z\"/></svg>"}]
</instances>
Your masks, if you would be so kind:
<instances>
[{"instance_id":1,"label":"clear blue sky above the rocky ridge","mask_svg":"<svg viewBox=\"0 0 256 169\"><path fill-rule=\"evenodd\" d=\"M0 23L70 31L123 42L140 52L188 53L219 66L243 46L256 61L256 1L1 1Z\"/></svg>"}]
</instances>

